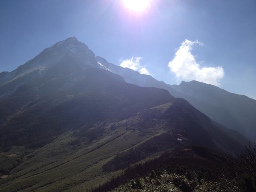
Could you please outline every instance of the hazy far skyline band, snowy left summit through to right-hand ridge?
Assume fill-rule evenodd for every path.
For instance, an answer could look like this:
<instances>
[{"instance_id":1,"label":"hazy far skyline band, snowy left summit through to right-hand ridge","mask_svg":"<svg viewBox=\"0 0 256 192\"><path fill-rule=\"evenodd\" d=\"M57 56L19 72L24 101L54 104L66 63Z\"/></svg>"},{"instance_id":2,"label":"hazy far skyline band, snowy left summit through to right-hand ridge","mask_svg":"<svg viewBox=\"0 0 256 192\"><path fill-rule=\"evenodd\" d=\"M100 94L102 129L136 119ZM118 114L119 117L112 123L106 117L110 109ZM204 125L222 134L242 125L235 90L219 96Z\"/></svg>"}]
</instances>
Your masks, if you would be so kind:
<instances>
[{"instance_id":1,"label":"hazy far skyline band, snowy left summit through to right-hand ridge","mask_svg":"<svg viewBox=\"0 0 256 192\"><path fill-rule=\"evenodd\" d=\"M65 47L68 46L68 47ZM66 48L66 49L65 49ZM49 52L53 51L50 55ZM40 74L47 71L54 63L59 62L65 54L75 55L75 59L84 62L89 66L102 68L119 74L128 83L144 87L164 88L175 97L186 99L193 106L198 108L204 114L208 115L213 120L223 124L231 130L236 130L244 136L256 142L256 100L246 96L232 94L222 90L216 86L204 84L196 81L182 82L179 86L168 85L164 82L159 82L151 76L140 74L129 68L122 68L114 64L108 63L104 58L89 50L88 46L79 43L76 38L68 38L62 42L56 43L51 48L46 48L41 54L30 60L26 64L20 66L12 72L2 72L0 74L0 84L2 86L0 99L10 94L16 86L12 85L13 90L4 89L5 83L9 80L15 80L34 70L40 70ZM46 56L46 58L44 58ZM32 66L31 66L32 65ZM26 70L29 68L29 70ZM26 76L22 77L26 78Z\"/></svg>"}]
</instances>

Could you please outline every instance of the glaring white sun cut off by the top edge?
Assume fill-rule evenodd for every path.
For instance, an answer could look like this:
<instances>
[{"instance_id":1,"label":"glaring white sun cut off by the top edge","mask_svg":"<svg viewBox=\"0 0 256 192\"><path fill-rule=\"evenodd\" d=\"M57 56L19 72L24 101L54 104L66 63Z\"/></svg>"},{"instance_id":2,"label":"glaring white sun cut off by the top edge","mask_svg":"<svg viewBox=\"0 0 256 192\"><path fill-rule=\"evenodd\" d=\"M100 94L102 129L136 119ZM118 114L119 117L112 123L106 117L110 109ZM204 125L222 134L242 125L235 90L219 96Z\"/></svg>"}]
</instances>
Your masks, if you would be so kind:
<instances>
[{"instance_id":1,"label":"glaring white sun cut off by the top edge","mask_svg":"<svg viewBox=\"0 0 256 192\"><path fill-rule=\"evenodd\" d=\"M151 0L123 0L123 1L124 1L124 5L130 10L141 12L150 5Z\"/></svg>"}]
</instances>

